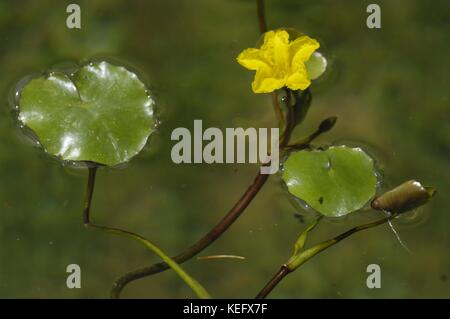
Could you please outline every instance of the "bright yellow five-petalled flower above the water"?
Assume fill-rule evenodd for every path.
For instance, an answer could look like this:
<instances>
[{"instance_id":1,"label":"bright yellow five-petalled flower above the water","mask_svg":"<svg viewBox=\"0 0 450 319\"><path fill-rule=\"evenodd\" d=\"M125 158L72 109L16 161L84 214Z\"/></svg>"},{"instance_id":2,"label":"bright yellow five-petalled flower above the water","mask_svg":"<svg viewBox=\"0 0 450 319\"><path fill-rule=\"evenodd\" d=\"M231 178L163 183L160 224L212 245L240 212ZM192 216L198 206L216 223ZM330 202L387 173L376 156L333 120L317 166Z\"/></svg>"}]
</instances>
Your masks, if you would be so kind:
<instances>
[{"instance_id":1,"label":"bright yellow five-petalled flower above the water","mask_svg":"<svg viewBox=\"0 0 450 319\"><path fill-rule=\"evenodd\" d=\"M237 62L256 71L252 83L255 93L269 93L284 86L304 90L311 84L305 62L319 46L319 42L306 35L289 41L285 30L268 31L261 48L245 49Z\"/></svg>"}]
</instances>

